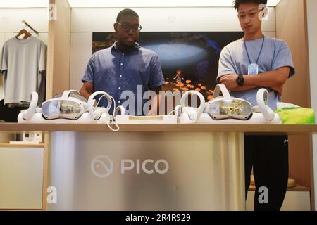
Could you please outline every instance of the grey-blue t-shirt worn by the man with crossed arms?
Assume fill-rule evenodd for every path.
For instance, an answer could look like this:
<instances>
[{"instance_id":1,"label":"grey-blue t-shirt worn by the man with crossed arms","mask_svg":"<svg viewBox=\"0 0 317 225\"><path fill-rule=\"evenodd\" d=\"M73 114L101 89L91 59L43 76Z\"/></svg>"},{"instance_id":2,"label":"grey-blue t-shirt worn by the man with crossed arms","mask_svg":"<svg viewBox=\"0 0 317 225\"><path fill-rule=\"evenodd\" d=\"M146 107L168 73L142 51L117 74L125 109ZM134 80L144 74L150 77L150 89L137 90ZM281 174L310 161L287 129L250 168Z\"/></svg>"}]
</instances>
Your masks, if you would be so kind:
<instances>
[{"instance_id":1,"label":"grey-blue t-shirt worn by the man with crossed arms","mask_svg":"<svg viewBox=\"0 0 317 225\"><path fill-rule=\"evenodd\" d=\"M246 41L251 63L256 63L262 42L263 39ZM233 41L228 44L228 46L225 46L223 51L221 51L217 81L223 75L247 75L249 64L247 51L244 47L244 40L239 39L237 41ZM263 50L257 64L259 65L259 75L261 75L262 72L277 70L278 68L285 66L291 68L290 77L295 73L290 49L285 41L280 39L265 37ZM261 87L248 91L231 91L231 96L234 96L235 98L243 98L254 106L257 105L256 93L259 89L261 89ZM276 110L276 103L281 101L280 95L277 91L273 91L272 89L268 89L268 93L268 105L273 110Z\"/></svg>"}]
</instances>

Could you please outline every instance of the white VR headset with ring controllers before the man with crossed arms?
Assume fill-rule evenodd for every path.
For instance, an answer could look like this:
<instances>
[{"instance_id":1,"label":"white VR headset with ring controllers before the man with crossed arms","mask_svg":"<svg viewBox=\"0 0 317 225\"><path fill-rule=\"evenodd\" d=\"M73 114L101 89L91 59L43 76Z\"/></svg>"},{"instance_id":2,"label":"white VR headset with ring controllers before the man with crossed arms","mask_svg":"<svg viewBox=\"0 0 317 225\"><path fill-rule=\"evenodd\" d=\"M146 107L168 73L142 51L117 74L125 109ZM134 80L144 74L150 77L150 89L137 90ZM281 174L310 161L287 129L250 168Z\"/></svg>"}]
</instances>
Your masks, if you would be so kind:
<instances>
[{"instance_id":1,"label":"white VR headset with ring controllers before the man with crossed arms","mask_svg":"<svg viewBox=\"0 0 317 225\"><path fill-rule=\"evenodd\" d=\"M185 106L185 99L189 94L199 96L199 108ZM260 89L256 94L257 106L241 98L230 96L225 85L218 84L211 101L205 103L204 96L198 91L187 91L181 98L181 105L176 106L175 115L180 118L180 123L203 124L280 124L280 117L267 105L268 91Z\"/></svg>"}]
</instances>

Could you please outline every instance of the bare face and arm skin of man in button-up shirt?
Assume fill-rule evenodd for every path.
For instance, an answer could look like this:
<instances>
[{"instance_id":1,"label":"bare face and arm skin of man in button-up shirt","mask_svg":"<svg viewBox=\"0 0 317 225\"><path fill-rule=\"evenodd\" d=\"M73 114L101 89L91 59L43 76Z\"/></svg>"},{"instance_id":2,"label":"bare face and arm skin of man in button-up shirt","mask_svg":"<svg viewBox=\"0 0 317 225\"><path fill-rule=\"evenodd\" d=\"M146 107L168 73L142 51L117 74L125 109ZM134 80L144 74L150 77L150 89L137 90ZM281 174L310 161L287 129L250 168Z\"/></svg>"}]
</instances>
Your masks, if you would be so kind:
<instances>
[{"instance_id":1,"label":"bare face and arm skin of man in button-up shirt","mask_svg":"<svg viewBox=\"0 0 317 225\"><path fill-rule=\"evenodd\" d=\"M120 23L120 24L119 24ZM123 24L129 25L130 27L139 26L139 18L132 15L123 15L118 23L113 24L113 28L116 31L116 35L118 38L117 47L121 52L128 52L135 48L135 42L139 39L139 31L134 31L132 29L125 30L123 29ZM159 91L162 90L162 87L153 89L156 94L159 95ZM80 89L80 94L85 98L89 98L89 96L94 92L94 84L91 82L84 82L82 84L82 88ZM155 98L152 103L153 112L149 112L149 115L155 115L154 111L159 110L159 98ZM156 105L156 106L155 106Z\"/></svg>"}]
</instances>

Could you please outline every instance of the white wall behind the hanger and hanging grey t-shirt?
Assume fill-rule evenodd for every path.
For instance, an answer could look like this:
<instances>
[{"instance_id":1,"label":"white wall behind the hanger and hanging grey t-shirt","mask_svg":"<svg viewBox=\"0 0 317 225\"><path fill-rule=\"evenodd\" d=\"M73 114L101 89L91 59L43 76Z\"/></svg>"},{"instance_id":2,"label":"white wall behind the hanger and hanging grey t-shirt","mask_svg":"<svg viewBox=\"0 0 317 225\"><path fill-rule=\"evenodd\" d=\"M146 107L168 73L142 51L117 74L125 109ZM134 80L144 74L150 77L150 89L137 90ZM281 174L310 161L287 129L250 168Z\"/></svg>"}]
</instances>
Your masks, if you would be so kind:
<instances>
[{"instance_id":1,"label":"white wall behind the hanger and hanging grey t-shirt","mask_svg":"<svg viewBox=\"0 0 317 225\"><path fill-rule=\"evenodd\" d=\"M14 37L25 25L25 20L39 35L32 33L44 44L48 43L49 10L47 8L0 8L0 53L4 42ZM26 28L26 30L30 30ZM4 98L2 76L0 76L0 100Z\"/></svg>"}]
</instances>

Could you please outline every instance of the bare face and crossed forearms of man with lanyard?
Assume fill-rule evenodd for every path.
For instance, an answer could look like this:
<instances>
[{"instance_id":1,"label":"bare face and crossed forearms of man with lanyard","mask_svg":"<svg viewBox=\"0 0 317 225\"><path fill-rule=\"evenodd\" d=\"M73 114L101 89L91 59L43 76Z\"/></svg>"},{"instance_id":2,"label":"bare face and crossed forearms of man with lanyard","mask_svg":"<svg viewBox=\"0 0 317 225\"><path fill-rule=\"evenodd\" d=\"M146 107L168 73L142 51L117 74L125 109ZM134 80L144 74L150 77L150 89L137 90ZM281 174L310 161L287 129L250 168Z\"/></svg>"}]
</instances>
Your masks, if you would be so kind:
<instances>
[{"instance_id":1,"label":"bare face and crossed forearms of man with lanyard","mask_svg":"<svg viewBox=\"0 0 317 225\"><path fill-rule=\"evenodd\" d=\"M244 31L244 40L255 40L263 38L261 30L262 21L259 20L262 11L259 10L259 4L244 3L238 8L238 18L240 26ZM290 75L290 68L283 67L277 70L267 71L261 75L243 75L244 85L237 85L238 75L224 75L220 78L220 84L225 84L230 91L247 91L259 86L271 88L282 96L282 89Z\"/></svg>"}]
</instances>

